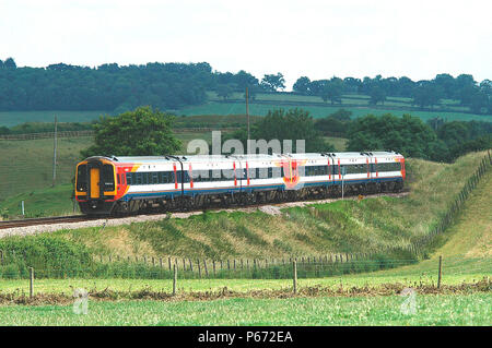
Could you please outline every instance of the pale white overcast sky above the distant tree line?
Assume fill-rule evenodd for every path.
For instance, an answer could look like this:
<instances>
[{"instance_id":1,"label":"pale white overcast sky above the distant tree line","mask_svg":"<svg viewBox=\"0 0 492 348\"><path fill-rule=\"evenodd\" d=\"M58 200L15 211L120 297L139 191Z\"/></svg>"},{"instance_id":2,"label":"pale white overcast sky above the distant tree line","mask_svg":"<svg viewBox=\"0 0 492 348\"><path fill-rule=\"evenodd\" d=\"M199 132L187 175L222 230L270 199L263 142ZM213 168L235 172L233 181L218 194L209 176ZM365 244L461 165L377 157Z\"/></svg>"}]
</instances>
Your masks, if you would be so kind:
<instances>
[{"instance_id":1,"label":"pale white overcast sky above the distant tree line","mask_svg":"<svg viewBox=\"0 0 492 348\"><path fill-rule=\"evenodd\" d=\"M0 59L209 62L258 79L492 80L490 1L0 0Z\"/></svg>"}]
</instances>

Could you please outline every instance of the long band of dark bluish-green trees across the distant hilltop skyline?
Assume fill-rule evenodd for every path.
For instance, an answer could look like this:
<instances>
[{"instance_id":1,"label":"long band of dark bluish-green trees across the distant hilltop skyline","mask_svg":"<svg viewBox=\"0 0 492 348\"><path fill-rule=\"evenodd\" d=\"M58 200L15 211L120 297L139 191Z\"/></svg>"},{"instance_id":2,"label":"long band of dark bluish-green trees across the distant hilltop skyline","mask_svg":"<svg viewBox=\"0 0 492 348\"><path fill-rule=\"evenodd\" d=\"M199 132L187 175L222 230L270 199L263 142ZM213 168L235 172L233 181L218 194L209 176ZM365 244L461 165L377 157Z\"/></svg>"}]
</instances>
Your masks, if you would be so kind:
<instances>
[{"instance_id":1,"label":"long band of dark bluish-green trees across the distant hilltop skyline","mask_svg":"<svg viewBox=\"0 0 492 348\"><path fill-rule=\"evenodd\" d=\"M208 91L227 99L233 93L244 93L246 87L254 100L258 93L283 91L285 79L281 72L265 74L261 80L244 70L218 72L207 62L17 68L12 58L0 60L0 111L104 110L118 115L140 105L177 110L206 103ZM492 113L492 81L478 83L469 74L454 77L443 73L417 82L406 76L362 80L333 76L316 81L301 76L293 92L318 96L333 105L341 104L342 95L347 94L367 95L372 105L384 104L387 97L406 97L421 108L454 99L475 113Z\"/></svg>"}]
</instances>

